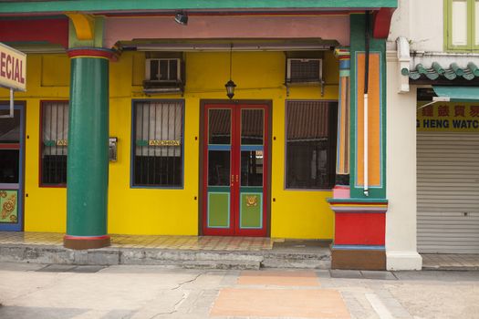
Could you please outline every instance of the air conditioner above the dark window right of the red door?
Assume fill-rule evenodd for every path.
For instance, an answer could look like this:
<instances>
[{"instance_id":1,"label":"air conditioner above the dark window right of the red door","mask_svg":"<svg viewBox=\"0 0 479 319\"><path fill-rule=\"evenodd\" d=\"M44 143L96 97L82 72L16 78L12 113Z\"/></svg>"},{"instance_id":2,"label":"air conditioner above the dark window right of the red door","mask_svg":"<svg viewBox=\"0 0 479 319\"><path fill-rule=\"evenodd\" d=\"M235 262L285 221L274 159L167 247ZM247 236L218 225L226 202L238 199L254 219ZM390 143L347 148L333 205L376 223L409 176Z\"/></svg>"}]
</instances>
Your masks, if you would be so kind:
<instances>
[{"instance_id":1,"label":"air conditioner above the dark window right of the red door","mask_svg":"<svg viewBox=\"0 0 479 319\"><path fill-rule=\"evenodd\" d=\"M286 84L322 82L323 61L320 58L288 58Z\"/></svg>"}]
</instances>

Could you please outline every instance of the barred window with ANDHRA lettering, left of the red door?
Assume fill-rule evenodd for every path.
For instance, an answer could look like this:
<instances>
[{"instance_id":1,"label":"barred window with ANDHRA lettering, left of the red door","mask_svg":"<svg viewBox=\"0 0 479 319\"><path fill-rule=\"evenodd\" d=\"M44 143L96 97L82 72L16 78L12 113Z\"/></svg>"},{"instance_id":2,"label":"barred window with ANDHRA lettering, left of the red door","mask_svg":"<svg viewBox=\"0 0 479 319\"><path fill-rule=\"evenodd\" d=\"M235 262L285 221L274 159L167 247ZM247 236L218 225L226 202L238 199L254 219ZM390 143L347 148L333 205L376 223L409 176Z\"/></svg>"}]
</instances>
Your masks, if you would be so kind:
<instances>
[{"instance_id":1,"label":"barred window with ANDHRA lettering, left of the red door","mask_svg":"<svg viewBox=\"0 0 479 319\"><path fill-rule=\"evenodd\" d=\"M182 187L183 116L180 100L133 104L133 186Z\"/></svg>"}]
</instances>

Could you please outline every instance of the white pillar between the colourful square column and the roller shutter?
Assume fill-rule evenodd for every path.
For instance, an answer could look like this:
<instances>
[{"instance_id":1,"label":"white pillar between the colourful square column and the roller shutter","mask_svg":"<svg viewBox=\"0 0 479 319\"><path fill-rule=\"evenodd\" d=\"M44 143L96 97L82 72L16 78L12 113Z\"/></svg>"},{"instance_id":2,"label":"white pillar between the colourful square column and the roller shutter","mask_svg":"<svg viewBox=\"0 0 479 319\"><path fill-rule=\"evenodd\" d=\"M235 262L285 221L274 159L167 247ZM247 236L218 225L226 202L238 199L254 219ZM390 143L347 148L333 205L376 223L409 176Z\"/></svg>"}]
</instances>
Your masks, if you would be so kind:
<instances>
[{"instance_id":1,"label":"white pillar between the colourful square column and the roller shutter","mask_svg":"<svg viewBox=\"0 0 479 319\"><path fill-rule=\"evenodd\" d=\"M398 94L400 67L387 57L386 258L388 270L420 270L416 248L416 90Z\"/></svg>"}]
</instances>

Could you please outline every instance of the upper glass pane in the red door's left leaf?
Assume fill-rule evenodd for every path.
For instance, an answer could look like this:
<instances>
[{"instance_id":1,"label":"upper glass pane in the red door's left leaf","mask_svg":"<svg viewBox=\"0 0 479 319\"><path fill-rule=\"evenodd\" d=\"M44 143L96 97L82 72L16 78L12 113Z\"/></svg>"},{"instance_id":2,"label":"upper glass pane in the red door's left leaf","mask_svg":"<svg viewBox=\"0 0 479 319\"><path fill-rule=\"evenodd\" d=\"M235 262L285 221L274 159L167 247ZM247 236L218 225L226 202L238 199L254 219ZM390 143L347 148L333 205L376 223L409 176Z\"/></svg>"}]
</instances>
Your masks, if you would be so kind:
<instances>
[{"instance_id":1,"label":"upper glass pane in the red door's left leaf","mask_svg":"<svg viewBox=\"0 0 479 319\"><path fill-rule=\"evenodd\" d=\"M231 143L231 109L210 109L208 112L208 144Z\"/></svg>"}]
</instances>

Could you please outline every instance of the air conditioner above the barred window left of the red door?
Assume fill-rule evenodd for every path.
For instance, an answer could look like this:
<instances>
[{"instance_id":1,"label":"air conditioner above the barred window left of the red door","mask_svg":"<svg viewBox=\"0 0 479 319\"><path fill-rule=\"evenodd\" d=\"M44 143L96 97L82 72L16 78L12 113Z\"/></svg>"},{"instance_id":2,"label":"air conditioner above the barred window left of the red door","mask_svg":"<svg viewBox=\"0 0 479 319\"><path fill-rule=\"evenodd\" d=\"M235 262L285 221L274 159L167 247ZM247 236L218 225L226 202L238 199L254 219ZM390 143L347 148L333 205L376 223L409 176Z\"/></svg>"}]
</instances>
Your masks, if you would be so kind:
<instances>
[{"instance_id":1,"label":"air conditioner above the barred window left of the red door","mask_svg":"<svg viewBox=\"0 0 479 319\"><path fill-rule=\"evenodd\" d=\"M145 93L183 91L184 70L181 58L147 58L145 63Z\"/></svg>"}]
</instances>

